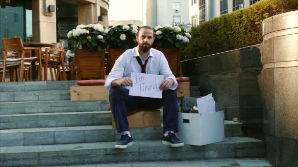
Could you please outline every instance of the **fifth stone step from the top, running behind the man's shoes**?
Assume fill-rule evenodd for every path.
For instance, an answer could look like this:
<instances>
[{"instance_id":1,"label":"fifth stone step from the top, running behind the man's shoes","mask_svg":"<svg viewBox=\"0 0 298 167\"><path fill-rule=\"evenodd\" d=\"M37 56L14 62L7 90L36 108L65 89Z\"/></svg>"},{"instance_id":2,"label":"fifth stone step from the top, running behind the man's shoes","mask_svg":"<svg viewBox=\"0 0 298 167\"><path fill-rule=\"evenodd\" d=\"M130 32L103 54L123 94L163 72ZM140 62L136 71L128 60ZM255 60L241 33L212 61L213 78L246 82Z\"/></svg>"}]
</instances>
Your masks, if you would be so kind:
<instances>
[{"instance_id":1,"label":"fifth stone step from the top, running behind the man's shoes","mask_svg":"<svg viewBox=\"0 0 298 167\"><path fill-rule=\"evenodd\" d=\"M107 115L103 115L102 117L106 118ZM76 122L75 119L73 121ZM226 123L225 134L232 130L236 131L236 129L239 129L238 134L241 133L241 124ZM163 134L163 126L131 128L130 132L135 140L160 139ZM236 136L239 135L235 134L232 137ZM8 129L0 130L0 146L106 142L117 141L119 137L119 133L111 125Z\"/></svg>"}]
</instances>

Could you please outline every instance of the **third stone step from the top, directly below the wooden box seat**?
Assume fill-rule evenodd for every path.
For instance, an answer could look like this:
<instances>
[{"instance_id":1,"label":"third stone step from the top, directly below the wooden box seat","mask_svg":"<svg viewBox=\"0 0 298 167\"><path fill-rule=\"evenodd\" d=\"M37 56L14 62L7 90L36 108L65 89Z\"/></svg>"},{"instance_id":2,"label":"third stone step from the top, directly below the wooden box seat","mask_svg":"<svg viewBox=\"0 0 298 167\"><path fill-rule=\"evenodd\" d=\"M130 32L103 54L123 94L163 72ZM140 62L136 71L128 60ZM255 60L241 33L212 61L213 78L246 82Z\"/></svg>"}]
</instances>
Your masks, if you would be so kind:
<instances>
[{"instance_id":1,"label":"third stone step from the top, directly below the wooden box seat","mask_svg":"<svg viewBox=\"0 0 298 167\"><path fill-rule=\"evenodd\" d=\"M1 102L0 115L50 112L106 111L108 100L101 101L38 101Z\"/></svg>"}]
</instances>

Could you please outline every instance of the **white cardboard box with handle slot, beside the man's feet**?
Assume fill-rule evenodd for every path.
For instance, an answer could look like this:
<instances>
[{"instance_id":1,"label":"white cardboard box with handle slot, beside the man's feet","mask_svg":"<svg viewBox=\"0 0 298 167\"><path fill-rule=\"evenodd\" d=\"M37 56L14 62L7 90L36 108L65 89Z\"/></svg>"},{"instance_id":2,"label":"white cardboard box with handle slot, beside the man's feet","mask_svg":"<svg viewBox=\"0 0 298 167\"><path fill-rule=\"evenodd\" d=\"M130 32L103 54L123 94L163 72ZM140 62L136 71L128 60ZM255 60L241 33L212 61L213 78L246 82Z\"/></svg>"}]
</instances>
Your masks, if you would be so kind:
<instances>
[{"instance_id":1,"label":"white cardboard box with handle slot, beside the man's feet","mask_svg":"<svg viewBox=\"0 0 298 167\"><path fill-rule=\"evenodd\" d=\"M224 111L178 113L177 135L188 145L203 146L224 141Z\"/></svg>"}]
</instances>

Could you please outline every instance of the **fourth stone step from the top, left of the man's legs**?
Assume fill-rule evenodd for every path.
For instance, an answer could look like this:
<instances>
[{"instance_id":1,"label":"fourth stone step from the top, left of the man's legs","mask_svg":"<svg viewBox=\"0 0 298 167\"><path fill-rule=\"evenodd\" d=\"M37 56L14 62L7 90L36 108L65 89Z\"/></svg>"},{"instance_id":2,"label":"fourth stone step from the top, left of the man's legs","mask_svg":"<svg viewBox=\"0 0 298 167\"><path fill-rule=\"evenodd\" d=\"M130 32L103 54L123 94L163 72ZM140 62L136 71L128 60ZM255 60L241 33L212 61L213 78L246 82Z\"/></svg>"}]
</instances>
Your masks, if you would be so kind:
<instances>
[{"instance_id":1,"label":"fourth stone step from the top, left of the man's legs","mask_svg":"<svg viewBox=\"0 0 298 167\"><path fill-rule=\"evenodd\" d=\"M111 125L111 111L0 115L0 129Z\"/></svg>"}]
</instances>

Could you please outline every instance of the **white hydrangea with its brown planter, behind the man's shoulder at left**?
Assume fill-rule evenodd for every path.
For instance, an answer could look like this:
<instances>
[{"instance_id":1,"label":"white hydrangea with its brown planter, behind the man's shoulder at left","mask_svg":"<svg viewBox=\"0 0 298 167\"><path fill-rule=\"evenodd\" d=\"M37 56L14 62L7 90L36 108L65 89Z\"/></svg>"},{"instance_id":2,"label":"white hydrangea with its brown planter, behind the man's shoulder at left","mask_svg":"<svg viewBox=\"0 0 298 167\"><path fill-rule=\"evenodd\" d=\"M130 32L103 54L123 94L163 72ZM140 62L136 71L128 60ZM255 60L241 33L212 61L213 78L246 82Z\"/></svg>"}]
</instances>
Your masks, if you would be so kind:
<instances>
[{"instance_id":1,"label":"white hydrangea with its brown planter, behind the man's shoulder at left","mask_svg":"<svg viewBox=\"0 0 298 167\"><path fill-rule=\"evenodd\" d=\"M135 24L116 24L109 29L107 34L107 43L109 45L108 72L111 71L115 61L126 49L137 46L138 28L139 26Z\"/></svg>"}]
</instances>

